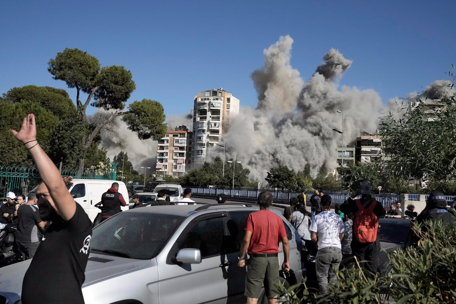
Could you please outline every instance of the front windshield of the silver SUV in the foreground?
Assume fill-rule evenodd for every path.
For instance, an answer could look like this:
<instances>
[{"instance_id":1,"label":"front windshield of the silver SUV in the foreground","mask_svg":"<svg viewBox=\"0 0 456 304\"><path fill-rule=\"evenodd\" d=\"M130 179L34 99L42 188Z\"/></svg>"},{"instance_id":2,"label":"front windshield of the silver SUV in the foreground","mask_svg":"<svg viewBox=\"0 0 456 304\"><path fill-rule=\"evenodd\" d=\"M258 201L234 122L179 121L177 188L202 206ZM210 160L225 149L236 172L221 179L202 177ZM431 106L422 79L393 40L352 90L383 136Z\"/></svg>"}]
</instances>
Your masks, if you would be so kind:
<instances>
[{"instance_id":1,"label":"front windshield of the silver SUV in the foreground","mask_svg":"<svg viewBox=\"0 0 456 304\"><path fill-rule=\"evenodd\" d=\"M183 216L122 212L93 229L93 253L148 260L155 258L176 231Z\"/></svg>"}]
</instances>

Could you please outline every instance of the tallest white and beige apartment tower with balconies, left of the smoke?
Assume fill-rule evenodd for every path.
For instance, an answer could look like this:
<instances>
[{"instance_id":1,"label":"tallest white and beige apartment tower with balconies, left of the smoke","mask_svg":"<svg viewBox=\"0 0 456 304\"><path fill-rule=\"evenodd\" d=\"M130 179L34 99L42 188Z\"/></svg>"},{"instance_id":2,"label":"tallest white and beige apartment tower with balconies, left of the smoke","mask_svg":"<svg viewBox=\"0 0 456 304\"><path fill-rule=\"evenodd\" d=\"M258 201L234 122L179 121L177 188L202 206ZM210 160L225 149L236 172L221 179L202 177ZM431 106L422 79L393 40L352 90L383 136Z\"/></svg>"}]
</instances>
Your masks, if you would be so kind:
<instances>
[{"instance_id":1,"label":"tallest white and beige apartment tower with balconies, left of the smoke","mask_svg":"<svg viewBox=\"0 0 456 304\"><path fill-rule=\"evenodd\" d=\"M197 93L193 107L193 167L204 163L210 147L223 143L230 118L238 113L239 99L223 88Z\"/></svg>"}]
</instances>

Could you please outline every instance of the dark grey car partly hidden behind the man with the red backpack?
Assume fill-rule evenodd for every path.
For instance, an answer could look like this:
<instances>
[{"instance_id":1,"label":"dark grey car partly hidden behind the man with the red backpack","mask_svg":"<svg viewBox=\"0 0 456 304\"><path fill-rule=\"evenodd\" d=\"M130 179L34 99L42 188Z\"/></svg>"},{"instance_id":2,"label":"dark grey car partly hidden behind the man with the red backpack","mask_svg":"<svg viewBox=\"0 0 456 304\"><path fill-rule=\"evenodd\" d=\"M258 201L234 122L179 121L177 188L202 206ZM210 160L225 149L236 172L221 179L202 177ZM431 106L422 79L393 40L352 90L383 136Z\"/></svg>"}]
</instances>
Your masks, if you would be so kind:
<instances>
[{"instance_id":1,"label":"dark grey car partly hidden behind the man with the red backpack","mask_svg":"<svg viewBox=\"0 0 456 304\"><path fill-rule=\"evenodd\" d=\"M389 267L388 252L397 248L405 249L411 245L412 230L411 223L404 218L380 218L378 220L378 240L380 249L378 254L377 272L385 272ZM316 283L315 257L317 248L311 247L304 250L302 260L307 270L307 281L311 284Z\"/></svg>"}]
</instances>

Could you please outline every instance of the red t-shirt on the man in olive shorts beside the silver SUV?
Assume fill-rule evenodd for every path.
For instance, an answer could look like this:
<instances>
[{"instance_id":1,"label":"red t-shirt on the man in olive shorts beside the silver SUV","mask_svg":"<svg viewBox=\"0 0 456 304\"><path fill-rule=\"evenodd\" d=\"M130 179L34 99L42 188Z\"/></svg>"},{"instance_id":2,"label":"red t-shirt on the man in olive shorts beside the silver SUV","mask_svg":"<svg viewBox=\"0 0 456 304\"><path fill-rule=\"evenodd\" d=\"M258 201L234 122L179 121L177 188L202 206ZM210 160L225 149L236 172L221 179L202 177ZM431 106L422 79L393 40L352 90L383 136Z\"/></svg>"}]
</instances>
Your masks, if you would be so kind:
<instances>
[{"instance_id":1,"label":"red t-shirt on the man in olive shorts beside the silver SUV","mask_svg":"<svg viewBox=\"0 0 456 304\"><path fill-rule=\"evenodd\" d=\"M249 249L252 253L279 253L279 241L286 237L284 222L272 211L252 212L245 221L244 230L252 232Z\"/></svg>"}]
</instances>

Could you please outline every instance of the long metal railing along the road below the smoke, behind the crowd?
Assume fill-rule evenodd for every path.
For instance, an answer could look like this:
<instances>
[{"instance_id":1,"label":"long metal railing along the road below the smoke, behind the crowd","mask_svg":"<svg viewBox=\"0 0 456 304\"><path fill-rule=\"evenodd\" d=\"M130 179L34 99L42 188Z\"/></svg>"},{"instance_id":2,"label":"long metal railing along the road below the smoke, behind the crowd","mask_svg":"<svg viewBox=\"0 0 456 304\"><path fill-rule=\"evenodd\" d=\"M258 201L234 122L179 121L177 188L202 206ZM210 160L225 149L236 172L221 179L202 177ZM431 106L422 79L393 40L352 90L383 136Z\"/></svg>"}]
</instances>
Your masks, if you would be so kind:
<instances>
[{"instance_id":1,"label":"long metal railing along the road below the smoke, behind the crowd","mask_svg":"<svg viewBox=\"0 0 456 304\"><path fill-rule=\"evenodd\" d=\"M216 197L220 193L224 193L227 196L230 196L234 199L247 199L247 200L256 200L259 193L264 191L263 189L226 189L226 188L216 188L216 187L187 187L182 186L183 188L192 189L193 196L207 196L207 197ZM274 201L280 203L288 203L292 197L298 196L299 192L287 191L287 190L268 190L271 192ZM332 198L332 204L342 204L347 200L349 193L334 193L334 192L325 192ZM311 198L313 192L306 192L307 201ZM400 196L396 194L374 194L374 198L379 201L383 207L389 208L391 203L400 201ZM360 198L358 196L356 198Z\"/></svg>"}]
</instances>

